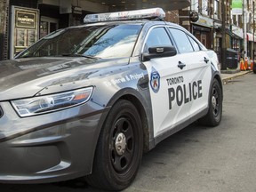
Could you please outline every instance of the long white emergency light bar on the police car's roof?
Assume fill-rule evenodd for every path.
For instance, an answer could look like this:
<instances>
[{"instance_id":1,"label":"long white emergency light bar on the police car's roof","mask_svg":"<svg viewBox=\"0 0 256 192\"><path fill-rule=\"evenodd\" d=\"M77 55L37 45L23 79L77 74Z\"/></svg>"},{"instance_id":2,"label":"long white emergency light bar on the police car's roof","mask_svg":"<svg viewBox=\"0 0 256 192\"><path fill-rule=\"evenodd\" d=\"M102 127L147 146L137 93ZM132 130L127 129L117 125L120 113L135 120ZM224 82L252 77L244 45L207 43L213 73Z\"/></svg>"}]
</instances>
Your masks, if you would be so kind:
<instances>
[{"instance_id":1,"label":"long white emergency light bar on the police car's roof","mask_svg":"<svg viewBox=\"0 0 256 192\"><path fill-rule=\"evenodd\" d=\"M84 17L84 23L113 21L113 20L141 20L160 19L163 20L165 12L161 8L142 9L127 12L106 12L99 14L88 14Z\"/></svg>"}]
</instances>

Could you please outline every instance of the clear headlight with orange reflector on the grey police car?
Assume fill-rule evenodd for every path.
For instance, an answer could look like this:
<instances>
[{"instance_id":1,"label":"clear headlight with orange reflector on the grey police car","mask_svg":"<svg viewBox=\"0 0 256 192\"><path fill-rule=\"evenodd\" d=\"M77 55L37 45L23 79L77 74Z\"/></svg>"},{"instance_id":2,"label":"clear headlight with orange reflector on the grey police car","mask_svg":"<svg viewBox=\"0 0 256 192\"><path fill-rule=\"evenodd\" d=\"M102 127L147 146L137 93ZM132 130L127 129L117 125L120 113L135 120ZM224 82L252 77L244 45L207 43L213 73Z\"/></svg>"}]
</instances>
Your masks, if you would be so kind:
<instances>
[{"instance_id":1,"label":"clear headlight with orange reflector on the grey police car","mask_svg":"<svg viewBox=\"0 0 256 192\"><path fill-rule=\"evenodd\" d=\"M11 103L21 117L34 116L82 104L90 100L92 90L92 87L88 87L24 100L12 100Z\"/></svg>"}]
</instances>

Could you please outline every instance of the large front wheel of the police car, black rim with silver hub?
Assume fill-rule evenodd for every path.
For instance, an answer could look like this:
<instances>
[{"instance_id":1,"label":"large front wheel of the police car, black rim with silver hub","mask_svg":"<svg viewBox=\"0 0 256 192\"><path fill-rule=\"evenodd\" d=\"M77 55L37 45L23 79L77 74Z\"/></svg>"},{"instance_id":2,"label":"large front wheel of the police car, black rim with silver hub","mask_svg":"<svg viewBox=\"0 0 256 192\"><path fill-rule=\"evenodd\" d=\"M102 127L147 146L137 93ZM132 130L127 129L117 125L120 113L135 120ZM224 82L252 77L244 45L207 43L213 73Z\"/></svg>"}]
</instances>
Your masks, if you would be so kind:
<instances>
[{"instance_id":1,"label":"large front wheel of the police car, black rim with silver hub","mask_svg":"<svg viewBox=\"0 0 256 192\"><path fill-rule=\"evenodd\" d=\"M138 110L130 101L118 100L100 132L92 174L85 179L95 188L115 191L127 188L138 172L142 152Z\"/></svg>"}]
</instances>

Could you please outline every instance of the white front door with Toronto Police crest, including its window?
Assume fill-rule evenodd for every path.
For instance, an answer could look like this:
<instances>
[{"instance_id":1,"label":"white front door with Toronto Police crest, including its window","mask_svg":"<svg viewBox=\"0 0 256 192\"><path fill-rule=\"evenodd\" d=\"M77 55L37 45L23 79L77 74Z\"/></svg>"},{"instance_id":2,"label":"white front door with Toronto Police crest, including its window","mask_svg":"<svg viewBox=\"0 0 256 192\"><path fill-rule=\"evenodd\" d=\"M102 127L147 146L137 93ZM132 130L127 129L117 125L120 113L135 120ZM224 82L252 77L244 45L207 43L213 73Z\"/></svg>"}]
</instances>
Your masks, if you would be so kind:
<instances>
[{"instance_id":1,"label":"white front door with Toronto Police crest, including its window","mask_svg":"<svg viewBox=\"0 0 256 192\"><path fill-rule=\"evenodd\" d=\"M148 47L173 46L166 28L152 28L144 45ZM188 68L179 68L182 55L152 59L144 62L148 69L151 104L153 108L154 137L181 124L188 118L188 105L184 105L183 85L188 79Z\"/></svg>"}]
</instances>

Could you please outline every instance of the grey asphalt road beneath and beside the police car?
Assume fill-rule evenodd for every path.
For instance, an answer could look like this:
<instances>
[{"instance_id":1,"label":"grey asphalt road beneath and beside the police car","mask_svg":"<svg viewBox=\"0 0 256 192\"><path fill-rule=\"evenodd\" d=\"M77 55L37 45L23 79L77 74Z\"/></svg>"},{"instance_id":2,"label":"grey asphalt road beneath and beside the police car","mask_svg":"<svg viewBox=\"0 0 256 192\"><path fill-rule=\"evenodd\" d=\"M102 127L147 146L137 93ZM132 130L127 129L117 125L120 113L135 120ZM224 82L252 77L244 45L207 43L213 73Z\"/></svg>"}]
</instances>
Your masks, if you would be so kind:
<instances>
[{"instance_id":1,"label":"grey asphalt road beneath and beside the police car","mask_svg":"<svg viewBox=\"0 0 256 192\"><path fill-rule=\"evenodd\" d=\"M256 75L224 84L222 122L189 125L143 156L125 192L256 192ZM4 185L1 192L96 192L79 181Z\"/></svg>"}]
</instances>

